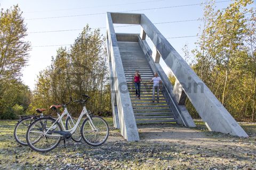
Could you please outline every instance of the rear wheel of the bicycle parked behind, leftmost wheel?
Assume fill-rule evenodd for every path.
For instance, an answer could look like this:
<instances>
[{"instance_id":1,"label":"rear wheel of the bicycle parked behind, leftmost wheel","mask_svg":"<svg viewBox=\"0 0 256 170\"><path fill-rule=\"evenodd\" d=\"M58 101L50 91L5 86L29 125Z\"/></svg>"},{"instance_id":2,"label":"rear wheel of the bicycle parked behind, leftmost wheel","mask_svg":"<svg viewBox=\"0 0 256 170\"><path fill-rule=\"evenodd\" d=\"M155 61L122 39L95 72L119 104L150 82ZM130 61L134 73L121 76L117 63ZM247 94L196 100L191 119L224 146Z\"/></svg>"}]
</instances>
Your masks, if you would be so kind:
<instances>
[{"instance_id":1,"label":"rear wheel of the bicycle parked behind, leftmost wheel","mask_svg":"<svg viewBox=\"0 0 256 170\"><path fill-rule=\"evenodd\" d=\"M26 117L22 118L21 121L17 123L17 125L14 128L14 138L15 140L20 143L20 145L25 145L27 146L28 143L26 141L26 132L28 130L28 126L33 122L33 118L31 117Z\"/></svg>"}]
</instances>

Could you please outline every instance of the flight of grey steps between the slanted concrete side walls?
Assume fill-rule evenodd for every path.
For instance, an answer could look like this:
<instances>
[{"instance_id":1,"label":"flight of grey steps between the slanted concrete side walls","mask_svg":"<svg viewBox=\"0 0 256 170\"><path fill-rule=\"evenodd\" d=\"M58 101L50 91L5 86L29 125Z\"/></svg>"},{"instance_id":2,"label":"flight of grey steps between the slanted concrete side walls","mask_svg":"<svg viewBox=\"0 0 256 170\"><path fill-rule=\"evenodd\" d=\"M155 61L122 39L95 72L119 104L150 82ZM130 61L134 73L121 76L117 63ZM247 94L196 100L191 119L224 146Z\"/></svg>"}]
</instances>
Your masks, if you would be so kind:
<instances>
[{"instance_id":1,"label":"flight of grey steps between the slanted concrete side walls","mask_svg":"<svg viewBox=\"0 0 256 170\"><path fill-rule=\"evenodd\" d=\"M149 81L154 77L154 73L146 59L138 42L118 41L119 52L121 54L124 67L125 78L129 88L133 112L136 123L162 123L177 122L174 113L167 102L162 89L159 92L159 103L152 101L153 83ZM133 77L135 70L139 70L141 79L141 97L135 96ZM155 100L157 94L155 93Z\"/></svg>"}]
</instances>

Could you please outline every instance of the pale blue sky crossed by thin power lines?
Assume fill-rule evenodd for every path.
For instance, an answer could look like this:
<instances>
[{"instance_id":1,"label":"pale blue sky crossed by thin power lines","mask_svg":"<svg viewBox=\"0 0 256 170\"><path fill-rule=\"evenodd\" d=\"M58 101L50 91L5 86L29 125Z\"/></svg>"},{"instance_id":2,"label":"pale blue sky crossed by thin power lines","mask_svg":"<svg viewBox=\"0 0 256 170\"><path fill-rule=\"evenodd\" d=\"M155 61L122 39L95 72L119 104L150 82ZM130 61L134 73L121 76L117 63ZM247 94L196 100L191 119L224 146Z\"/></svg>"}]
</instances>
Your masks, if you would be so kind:
<instances>
[{"instance_id":1,"label":"pale blue sky crossed by thin power lines","mask_svg":"<svg viewBox=\"0 0 256 170\"><path fill-rule=\"evenodd\" d=\"M217 7L226 7L231 2L217 0ZM123 0L123 1L85 1L85 0L0 0L1 8L10 8L18 4L23 11L23 18L28 28L26 40L30 41L32 49L28 66L23 69L22 80L31 89L35 87L35 81L39 71L45 69L51 63L51 56L55 56L57 45L73 44L79 32L86 24L91 28L102 28L101 32L106 35L106 12L132 12L144 13L166 38L196 36L201 21L196 20L203 16L203 0ZM187 5L187 6L186 6ZM188 6L189 5L189 6ZM253 4L255 6L255 4ZM92 14L92 15L86 15ZM62 17L66 16L66 17ZM46 19L45 19L46 18ZM171 22L171 23L170 23ZM69 31L57 31L69 30ZM53 32L42 32L53 31ZM116 27L116 32L139 33L140 27ZM181 48L188 44L189 49L195 47L198 37L170 38L170 44L183 55ZM54 45L54 46L53 46ZM164 69L167 68L163 65Z\"/></svg>"}]
</instances>

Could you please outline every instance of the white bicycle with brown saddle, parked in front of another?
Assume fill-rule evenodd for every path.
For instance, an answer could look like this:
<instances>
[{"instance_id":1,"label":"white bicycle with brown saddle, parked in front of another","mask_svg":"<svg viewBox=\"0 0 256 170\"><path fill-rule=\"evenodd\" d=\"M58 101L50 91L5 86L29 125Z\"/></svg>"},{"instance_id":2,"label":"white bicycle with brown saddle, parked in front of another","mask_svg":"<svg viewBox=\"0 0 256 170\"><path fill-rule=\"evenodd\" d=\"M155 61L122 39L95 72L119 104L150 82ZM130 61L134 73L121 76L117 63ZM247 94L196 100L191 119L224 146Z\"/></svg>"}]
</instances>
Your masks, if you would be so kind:
<instances>
[{"instance_id":1,"label":"white bicycle with brown saddle, parked in front of another","mask_svg":"<svg viewBox=\"0 0 256 170\"><path fill-rule=\"evenodd\" d=\"M91 115L90 111L87 112L85 104L90 97L87 95L83 95L83 97L85 97L85 99L74 101L83 104L83 111L73 128L66 129L61 120L65 115L68 115L67 104L53 105L51 109L63 107L64 112L61 115L58 112L57 120L42 117L31 123L26 134L28 146L38 152L47 152L56 148L62 139L65 142L65 139L72 138L72 134L75 133L84 115L87 117L83 121L80 131L84 141L91 146L100 146L106 142L109 135L107 122L99 116Z\"/></svg>"}]
</instances>

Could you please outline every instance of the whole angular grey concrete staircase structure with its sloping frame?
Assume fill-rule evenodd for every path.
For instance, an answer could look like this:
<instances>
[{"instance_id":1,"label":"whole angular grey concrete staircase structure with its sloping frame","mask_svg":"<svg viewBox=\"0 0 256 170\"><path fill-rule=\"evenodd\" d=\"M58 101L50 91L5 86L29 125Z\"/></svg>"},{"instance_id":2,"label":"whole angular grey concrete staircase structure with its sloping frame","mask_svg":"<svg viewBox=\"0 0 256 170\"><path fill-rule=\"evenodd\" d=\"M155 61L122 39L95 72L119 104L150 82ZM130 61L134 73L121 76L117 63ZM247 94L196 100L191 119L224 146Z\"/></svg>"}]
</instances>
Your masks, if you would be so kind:
<instances>
[{"instance_id":1,"label":"whole angular grey concrete staircase structure with its sloping frame","mask_svg":"<svg viewBox=\"0 0 256 170\"><path fill-rule=\"evenodd\" d=\"M113 23L140 24L141 32L116 33ZM153 49L148 46L146 35L153 41ZM137 124L141 123L174 122L194 127L185 107L187 97L209 130L248 136L144 14L107 13L107 53L114 126L126 140L139 140ZM159 64L161 57L176 79L174 86ZM140 99L135 96L135 70L145 82L141 84ZM148 83L154 72L163 81L159 103L152 102L153 84Z\"/></svg>"}]
</instances>

